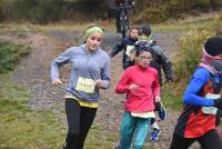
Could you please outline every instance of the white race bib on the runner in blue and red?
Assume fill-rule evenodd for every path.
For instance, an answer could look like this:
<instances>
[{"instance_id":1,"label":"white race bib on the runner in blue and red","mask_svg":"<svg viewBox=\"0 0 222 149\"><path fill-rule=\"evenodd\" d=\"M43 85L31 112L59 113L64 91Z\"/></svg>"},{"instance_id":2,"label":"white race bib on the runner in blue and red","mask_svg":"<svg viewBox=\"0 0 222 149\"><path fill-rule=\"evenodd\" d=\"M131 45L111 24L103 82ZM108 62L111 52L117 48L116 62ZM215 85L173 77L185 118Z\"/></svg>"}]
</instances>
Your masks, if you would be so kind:
<instances>
[{"instance_id":1,"label":"white race bib on the runner in blue and red","mask_svg":"<svg viewBox=\"0 0 222 149\"><path fill-rule=\"evenodd\" d=\"M218 99L218 98L220 98L220 95L208 93L205 96L205 98ZM203 111L203 113L208 113L208 115L216 115L218 108L215 108L215 107L203 107L202 111Z\"/></svg>"}]
</instances>

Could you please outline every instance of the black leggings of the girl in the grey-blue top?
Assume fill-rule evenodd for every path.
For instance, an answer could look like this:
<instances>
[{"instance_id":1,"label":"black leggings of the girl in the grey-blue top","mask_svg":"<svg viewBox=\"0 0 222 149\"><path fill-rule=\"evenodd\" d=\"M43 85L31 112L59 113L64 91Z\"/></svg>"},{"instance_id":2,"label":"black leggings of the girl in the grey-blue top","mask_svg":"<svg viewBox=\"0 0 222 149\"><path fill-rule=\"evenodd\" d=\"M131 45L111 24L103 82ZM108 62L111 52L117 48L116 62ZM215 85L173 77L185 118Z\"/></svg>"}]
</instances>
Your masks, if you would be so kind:
<instances>
[{"instance_id":1,"label":"black leggings of the girl in the grey-blue top","mask_svg":"<svg viewBox=\"0 0 222 149\"><path fill-rule=\"evenodd\" d=\"M81 107L74 99L65 99L68 135L65 149L83 149L97 108Z\"/></svg>"}]
</instances>

